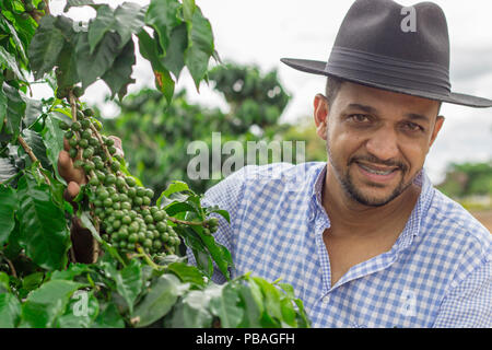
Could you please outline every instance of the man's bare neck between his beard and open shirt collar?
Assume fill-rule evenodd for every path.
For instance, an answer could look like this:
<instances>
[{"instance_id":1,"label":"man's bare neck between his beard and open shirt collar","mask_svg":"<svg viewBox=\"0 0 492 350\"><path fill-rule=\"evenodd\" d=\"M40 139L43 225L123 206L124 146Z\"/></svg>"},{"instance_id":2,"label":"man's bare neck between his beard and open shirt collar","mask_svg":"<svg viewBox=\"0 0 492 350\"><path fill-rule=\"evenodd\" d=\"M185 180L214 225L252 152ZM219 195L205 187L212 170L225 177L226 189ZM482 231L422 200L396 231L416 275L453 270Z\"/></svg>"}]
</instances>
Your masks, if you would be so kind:
<instances>
[{"instance_id":1,"label":"man's bare neck between his beard and open shirt collar","mask_svg":"<svg viewBox=\"0 0 492 350\"><path fill-rule=\"evenodd\" d=\"M364 206L352 199L339 185L333 174L325 176L323 206L330 218L335 234L351 238L370 238L400 233L410 217L421 188L409 186L400 196L385 206ZM331 175L331 176L330 176Z\"/></svg>"}]
</instances>

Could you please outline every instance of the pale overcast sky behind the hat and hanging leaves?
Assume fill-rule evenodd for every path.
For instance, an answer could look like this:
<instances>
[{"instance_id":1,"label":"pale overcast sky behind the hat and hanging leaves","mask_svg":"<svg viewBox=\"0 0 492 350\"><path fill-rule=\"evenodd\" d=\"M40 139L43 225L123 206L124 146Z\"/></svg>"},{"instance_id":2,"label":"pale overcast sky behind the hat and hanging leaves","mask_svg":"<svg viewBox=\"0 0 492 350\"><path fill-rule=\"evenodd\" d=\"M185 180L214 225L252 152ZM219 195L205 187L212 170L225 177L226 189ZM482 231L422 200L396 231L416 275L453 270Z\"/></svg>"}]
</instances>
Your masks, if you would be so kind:
<instances>
[{"instance_id":1,"label":"pale overcast sky behind the hat and hanging leaves","mask_svg":"<svg viewBox=\"0 0 492 350\"><path fill-rule=\"evenodd\" d=\"M124 1L96 3L117 5ZM140 4L148 0L133 0ZM262 72L278 70L279 79L292 100L282 120L295 122L313 115L313 98L323 92L325 78L306 74L280 62L282 57L326 61L338 28L352 0L196 0L210 20L215 49L221 59L243 65L257 65ZM397 1L412 5L415 1ZM446 14L450 37L452 90L492 98L492 1L434 0ZM61 13L63 0L50 1L51 12ZM73 8L68 13L74 20L87 21L95 15L89 8ZM150 65L138 60L133 69L137 83L129 92L153 85ZM188 96L210 107L226 110L223 98L202 83L200 93L194 88L189 74L183 74L177 89L187 89ZM43 89L43 88L38 88ZM90 86L83 101L103 104L109 92L104 83ZM38 94L43 91L38 90ZM117 109L106 104L106 116ZM425 163L433 183L443 179L449 162L492 160L492 108L470 108L443 104L446 117L443 129L434 142Z\"/></svg>"}]
</instances>

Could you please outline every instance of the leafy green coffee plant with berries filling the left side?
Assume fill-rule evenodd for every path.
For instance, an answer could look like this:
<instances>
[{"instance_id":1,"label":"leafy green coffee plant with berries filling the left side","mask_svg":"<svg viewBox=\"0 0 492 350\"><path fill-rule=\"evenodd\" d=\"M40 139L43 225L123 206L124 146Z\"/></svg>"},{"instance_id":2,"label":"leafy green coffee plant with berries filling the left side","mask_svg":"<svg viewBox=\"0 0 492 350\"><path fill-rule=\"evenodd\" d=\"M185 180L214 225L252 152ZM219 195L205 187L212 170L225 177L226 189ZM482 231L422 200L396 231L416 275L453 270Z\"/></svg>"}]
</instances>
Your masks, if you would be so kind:
<instances>
[{"instance_id":1,"label":"leafy green coffee plant with berries filling the left side","mask_svg":"<svg viewBox=\"0 0 492 350\"><path fill-rule=\"evenodd\" d=\"M73 22L77 7L95 18ZM181 180L155 196L83 102L101 80L125 97L136 47L167 103L183 69L198 89L218 58L194 0L67 0L59 15L47 0L0 0L0 327L308 327L290 284L231 278L213 237L229 212ZM52 96L34 98L38 83ZM83 174L74 198L63 150Z\"/></svg>"}]
</instances>

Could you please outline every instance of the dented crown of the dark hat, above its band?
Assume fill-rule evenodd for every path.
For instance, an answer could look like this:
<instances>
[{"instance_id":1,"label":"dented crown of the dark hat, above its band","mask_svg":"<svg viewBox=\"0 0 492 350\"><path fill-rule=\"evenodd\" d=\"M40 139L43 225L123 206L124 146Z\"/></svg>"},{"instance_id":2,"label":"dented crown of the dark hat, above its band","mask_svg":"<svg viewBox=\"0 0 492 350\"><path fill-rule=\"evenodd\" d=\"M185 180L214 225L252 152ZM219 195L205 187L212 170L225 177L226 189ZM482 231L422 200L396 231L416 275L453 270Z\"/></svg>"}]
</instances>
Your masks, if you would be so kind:
<instances>
[{"instance_id":1,"label":"dented crown of the dark hat, above its band","mask_svg":"<svg viewBox=\"0 0 492 350\"><path fill-rule=\"evenodd\" d=\"M408 30L409 23L413 31ZM391 0L358 0L343 19L335 47L435 63L449 70L446 16L432 2L406 8Z\"/></svg>"}]
</instances>

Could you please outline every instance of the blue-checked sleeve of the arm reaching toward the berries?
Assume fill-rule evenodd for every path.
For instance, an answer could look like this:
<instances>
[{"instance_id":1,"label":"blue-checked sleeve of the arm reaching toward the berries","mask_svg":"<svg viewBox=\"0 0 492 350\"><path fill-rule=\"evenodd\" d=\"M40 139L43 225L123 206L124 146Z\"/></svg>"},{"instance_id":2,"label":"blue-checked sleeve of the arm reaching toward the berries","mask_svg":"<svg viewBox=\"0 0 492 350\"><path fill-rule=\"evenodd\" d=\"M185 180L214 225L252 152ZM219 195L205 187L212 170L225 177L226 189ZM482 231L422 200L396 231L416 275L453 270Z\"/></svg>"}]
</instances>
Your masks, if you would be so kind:
<instances>
[{"instance_id":1,"label":"blue-checked sleeve of the arm reaching toward the berries","mask_svg":"<svg viewBox=\"0 0 492 350\"><path fill-rule=\"evenodd\" d=\"M239 205L244 194L244 186L246 180L246 173L249 166L242 167L237 172L229 175L226 178L221 180L219 184L209 188L201 200L202 207L218 206L219 209L226 210L230 214L231 223L229 223L222 215L216 213L211 213L211 218L218 218L219 224L218 230L213 234L215 242L225 246L227 250L234 256L233 246L233 233L234 228L237 224L239 218L237 213L239 212ZM192 250L188 247L186 252L188 256L188 264L197 265L195 255ZM215 283L225 283L225 277L220 272L213 262L214 272L212 280Z\"/></svg>"}]
</instances>

